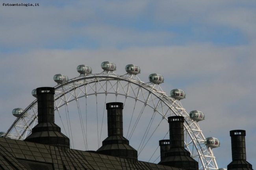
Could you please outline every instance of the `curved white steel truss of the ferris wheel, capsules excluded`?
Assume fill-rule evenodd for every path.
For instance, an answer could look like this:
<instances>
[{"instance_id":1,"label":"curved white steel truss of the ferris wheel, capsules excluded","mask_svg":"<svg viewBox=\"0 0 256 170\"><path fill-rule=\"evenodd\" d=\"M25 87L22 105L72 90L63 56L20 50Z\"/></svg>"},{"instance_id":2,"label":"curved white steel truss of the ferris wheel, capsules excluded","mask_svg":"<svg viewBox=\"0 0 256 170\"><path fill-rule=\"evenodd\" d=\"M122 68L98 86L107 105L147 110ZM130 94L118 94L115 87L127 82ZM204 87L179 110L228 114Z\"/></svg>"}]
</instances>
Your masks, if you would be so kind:
<instances>
[{"instance_id":1,"label":"curved white steel truss of the ferris wheel, capsules excluded","mask_svg":"<svg viewBox=\"0 0 256 170\"><path fill-rule=\"evenodd\" d=\"M137 101L142 103L144 107L151 109L154 114L159 114L163 120L167 120L169 116L184 116L185 148L199 162L199 169L218 169L211 148L205 145L206 138L198 122L190 118L189 114L182 107L180 100L165 94L158 84L152 82L144 83L137 75L124 74L119 76L114 72L103 71L100 74L80 75L67 82L60 83L54 88L55 112L58 112L61 107L67 107L70 102L76 102L82 98L87 99L92 96L100 96L101 94L103 96L113 94L115 97L123 96L124 102L129 98L135 101L135 103ZM135 105L128 107L135 108ZM23 140L31 133L36 123L37 99L24 109L4 137ZM157 145L158 140L156 140Z\"/></svg>"}]
</instances>

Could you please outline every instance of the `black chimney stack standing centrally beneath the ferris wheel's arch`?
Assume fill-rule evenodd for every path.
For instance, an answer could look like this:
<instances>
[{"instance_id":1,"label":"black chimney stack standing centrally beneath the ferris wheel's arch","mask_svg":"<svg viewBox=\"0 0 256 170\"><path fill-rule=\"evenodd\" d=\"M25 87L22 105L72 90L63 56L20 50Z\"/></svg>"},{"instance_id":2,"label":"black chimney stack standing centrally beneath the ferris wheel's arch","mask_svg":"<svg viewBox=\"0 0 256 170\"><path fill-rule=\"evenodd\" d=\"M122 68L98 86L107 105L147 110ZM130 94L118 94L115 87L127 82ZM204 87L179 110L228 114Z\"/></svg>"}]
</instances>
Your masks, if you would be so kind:
<instances>
[{"instance_id":1,"label":"black chimney stack standing centrally beneath the ferris wheel's arch","mask_svg":"<svg viewBox=\"0 0 256 170\"><path fill-rule=\"evenodd\" d=\"M123 137L123 103L106 103L106 109L108 112L108 137L102 141L102 146L96 152L109 156L122 157L131 162L136 162L138 160L137 150L132 148L129 145L129 141Z\"/></svg>"}]
</instances>

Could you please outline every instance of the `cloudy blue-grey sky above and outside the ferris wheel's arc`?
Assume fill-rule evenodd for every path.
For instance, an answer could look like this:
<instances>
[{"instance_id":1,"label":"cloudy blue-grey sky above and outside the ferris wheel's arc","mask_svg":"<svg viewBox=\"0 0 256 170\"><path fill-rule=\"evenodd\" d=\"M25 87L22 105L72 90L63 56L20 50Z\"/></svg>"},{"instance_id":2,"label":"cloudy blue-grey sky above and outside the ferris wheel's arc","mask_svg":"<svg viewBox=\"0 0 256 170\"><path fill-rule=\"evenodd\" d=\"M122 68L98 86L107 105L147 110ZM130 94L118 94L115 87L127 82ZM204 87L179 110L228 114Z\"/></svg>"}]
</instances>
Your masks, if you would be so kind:
<instances>
[{"instance_id":1,"label":"cloudy blue-grey sky above and outside the ferris wheel's arc","mask_svg":"<svg viewBox=\"0 0 256 170\"><path fill-rule=\"evenodd\" d=\"M133 63L142 81L159 73L167 94L186 92L187 112L204 112L204 136L221 141L213 150L219 168L232 161L235 129L246 130L247 161L256 168L254 0L0 2L0 131L15 121L12 109L32 103L33 89L56 85L54 74L74 78L80 64L99 73L112 61L123 75Z\"/></svg>"}]
</instances>

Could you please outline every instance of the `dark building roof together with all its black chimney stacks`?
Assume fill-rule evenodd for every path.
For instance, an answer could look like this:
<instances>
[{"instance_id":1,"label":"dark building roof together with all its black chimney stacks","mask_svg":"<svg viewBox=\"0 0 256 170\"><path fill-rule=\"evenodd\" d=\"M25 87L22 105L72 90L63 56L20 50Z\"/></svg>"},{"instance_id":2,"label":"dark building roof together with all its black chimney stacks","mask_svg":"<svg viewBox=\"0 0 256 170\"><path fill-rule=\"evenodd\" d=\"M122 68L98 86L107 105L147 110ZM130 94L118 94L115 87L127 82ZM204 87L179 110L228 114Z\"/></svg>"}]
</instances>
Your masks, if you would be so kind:
<instances>
[{"instance_id":1,"label":"dark building roof together with all its black chimney stacks","mask_svg":"<svg viewBox=\"0 0 256 170\"><path fill-rule=\"evenodd\" d=\"M24 141L0 137L0 170L198 170L184 148L184 117L168 118L170 140L160 141L159 164L137 160L137 150L123 137L123 103L106 103L108 137L97 151L70 149L69 138L54 123L54 88L37 88L38 124ZM252 170L246 161L245 130L230 131L232 162L228 170Z\"/></svg>"}]
</instances>

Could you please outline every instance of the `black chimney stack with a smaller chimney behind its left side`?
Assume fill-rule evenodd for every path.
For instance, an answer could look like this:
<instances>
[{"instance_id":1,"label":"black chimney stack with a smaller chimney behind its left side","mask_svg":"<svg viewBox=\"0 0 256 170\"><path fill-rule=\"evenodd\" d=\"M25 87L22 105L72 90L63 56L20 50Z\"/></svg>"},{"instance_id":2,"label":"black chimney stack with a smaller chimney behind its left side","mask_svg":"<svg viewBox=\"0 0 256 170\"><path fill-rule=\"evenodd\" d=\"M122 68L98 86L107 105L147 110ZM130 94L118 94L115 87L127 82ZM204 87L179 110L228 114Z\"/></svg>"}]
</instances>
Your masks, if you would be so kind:
<instances>
[{"instance_id":1,"label":"black chimney stack with a smaller chimney behind its left side","mask_svg":"<svg viewBox=\"0 0 256 170\"><path fill-rule=\"evenodd\" d=\"M184 148L184 117L171 116L168 118L168 123L170 149L158 164L183 168L185 170L198 170L198 162L190 157L190 153Z\"/></svg>"}]
</instances>

